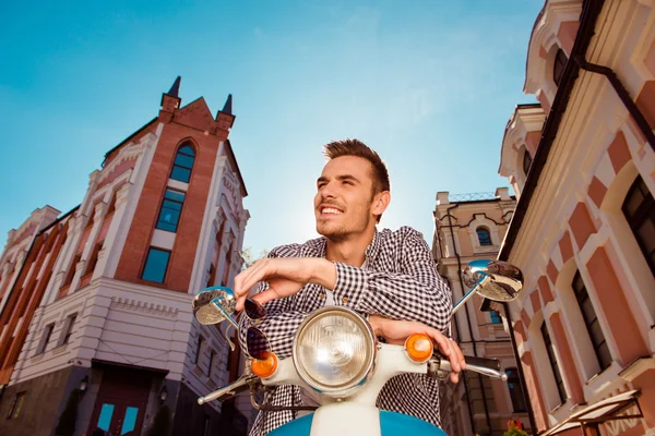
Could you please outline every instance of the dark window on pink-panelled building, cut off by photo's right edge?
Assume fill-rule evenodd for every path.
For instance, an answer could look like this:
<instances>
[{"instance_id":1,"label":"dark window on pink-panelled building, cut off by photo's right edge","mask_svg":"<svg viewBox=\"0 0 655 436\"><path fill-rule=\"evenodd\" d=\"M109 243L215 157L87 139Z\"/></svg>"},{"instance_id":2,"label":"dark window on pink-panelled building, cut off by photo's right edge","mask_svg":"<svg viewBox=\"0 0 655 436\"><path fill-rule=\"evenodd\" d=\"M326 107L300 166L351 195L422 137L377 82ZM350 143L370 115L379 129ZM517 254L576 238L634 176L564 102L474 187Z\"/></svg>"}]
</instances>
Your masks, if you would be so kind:
<instances>
[{"instance_id":1,"label":"dark window on pink-panelled building, cut off by photo's right edge","mask_svg":"<svg viewBox=\"0 0 655 436\"><path fill-rule=\"evenodd\" d=\"M630 186L621 210L655 276L655 201L641 177Z\"/></svg>"}]
</instances>

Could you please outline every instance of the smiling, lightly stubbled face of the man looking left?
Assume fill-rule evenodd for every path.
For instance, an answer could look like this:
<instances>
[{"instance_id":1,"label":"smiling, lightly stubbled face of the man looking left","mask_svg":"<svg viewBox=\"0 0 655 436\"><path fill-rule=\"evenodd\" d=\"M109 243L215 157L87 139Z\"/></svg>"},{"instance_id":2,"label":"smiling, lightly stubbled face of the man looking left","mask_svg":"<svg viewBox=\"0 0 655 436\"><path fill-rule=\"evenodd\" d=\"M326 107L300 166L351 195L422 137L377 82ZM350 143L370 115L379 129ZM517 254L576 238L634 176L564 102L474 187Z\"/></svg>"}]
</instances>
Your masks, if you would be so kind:
<instances>
[{"instance_id":1,"label":"smiling, lightly stubbled face of the man looking left","mask_svg":"<svg viewBox=\"0 0 655 436\"><path fill-rule=\"evenodd\" d=\"M317 181L317 231L333 241L364 232L376 217L372 165L357 156L331 159Z\"/></svg>"}]
</instances>

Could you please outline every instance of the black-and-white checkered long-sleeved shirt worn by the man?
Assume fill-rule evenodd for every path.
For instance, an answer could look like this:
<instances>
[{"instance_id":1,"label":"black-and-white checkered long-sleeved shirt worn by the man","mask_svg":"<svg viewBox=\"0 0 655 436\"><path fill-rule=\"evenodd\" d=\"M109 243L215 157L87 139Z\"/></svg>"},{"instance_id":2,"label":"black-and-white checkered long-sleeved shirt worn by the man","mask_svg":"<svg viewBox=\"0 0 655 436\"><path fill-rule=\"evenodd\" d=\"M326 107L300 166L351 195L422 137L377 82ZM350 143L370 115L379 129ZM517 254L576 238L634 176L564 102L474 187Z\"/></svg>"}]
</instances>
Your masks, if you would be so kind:
<instances>
[{"instance_id":1,"label":"black-and-white checkered long-sleeved shirt worn by the man","mask_svg":"<svg viewBox=\"0 0 655 436\"><path fill-rule=\"evenodd\" d=\"M303 244L283 245L269 257L325 257L325 239ZM452 310L448 284L437 274L434 261L422 235L409 228L376 231L366 250L361 268L335 262L335 304L348 306L360 314L382 315L393 319L417 320L440 331L448 331ZM258 292L269 287L261 282ZM325 288L308 283L285 299L266 303L267 316L258 327L264 331L279 359L291 355L294 336L310 315L325 304ZM250 320L241 317L240 341L245 347ZM274 405L302 404L300 388L284 385L275 388ZM427 375L401 374L390 379L378 396L380 409L401 412L440 426L438 382ZM250 432L265 435L294 420L293 411L260 412Z\"/></svg>"}]
</instances>

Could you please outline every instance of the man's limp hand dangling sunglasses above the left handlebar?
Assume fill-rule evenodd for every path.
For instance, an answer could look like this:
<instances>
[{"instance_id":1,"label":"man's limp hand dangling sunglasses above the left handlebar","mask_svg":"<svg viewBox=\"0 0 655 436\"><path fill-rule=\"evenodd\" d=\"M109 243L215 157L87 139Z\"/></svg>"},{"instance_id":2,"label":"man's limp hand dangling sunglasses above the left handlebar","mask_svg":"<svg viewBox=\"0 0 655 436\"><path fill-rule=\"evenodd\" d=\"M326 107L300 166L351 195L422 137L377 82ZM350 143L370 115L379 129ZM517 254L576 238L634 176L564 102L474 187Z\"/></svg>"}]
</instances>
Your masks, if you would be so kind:
<instances>
[{"instance_id":1,"label":"man's limp hand dangling sunglasses above the left handlebar","mask_svg":"<svg viewBox=\"0 0 655 436\"><path fill-rule=\"evenodd\" d=\"M289 296L307 283L317 283L327 289L336 286L336 267L321 257L264 258L255 262L235 277L237 311L243 308L248 291L259 281L270 288L252 299L261 304L271 300Z\"/></svg>"}]
</instances>

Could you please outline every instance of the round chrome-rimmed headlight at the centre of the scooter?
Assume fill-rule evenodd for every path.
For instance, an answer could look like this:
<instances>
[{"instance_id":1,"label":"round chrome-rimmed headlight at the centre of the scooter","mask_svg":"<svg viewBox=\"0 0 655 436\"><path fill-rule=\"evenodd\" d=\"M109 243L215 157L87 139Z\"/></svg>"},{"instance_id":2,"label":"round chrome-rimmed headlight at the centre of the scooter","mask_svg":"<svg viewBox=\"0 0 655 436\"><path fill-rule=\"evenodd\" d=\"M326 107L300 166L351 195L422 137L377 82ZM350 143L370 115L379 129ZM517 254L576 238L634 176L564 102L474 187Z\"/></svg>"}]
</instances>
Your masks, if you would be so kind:
<instances>
[{"instance_id":1,"label":"round chrome-rimmed headlight at the centre of the scooter","mask_svg":"<svg viewBox=\"0 0 655 436\"><path fill-rule=\"evenodd\" d=\"M294 364L313 389L349 395L373 368L376 337L357 313L341 306L323 307L305 319L294 339Z\"/></svg>"}]
</instances>

